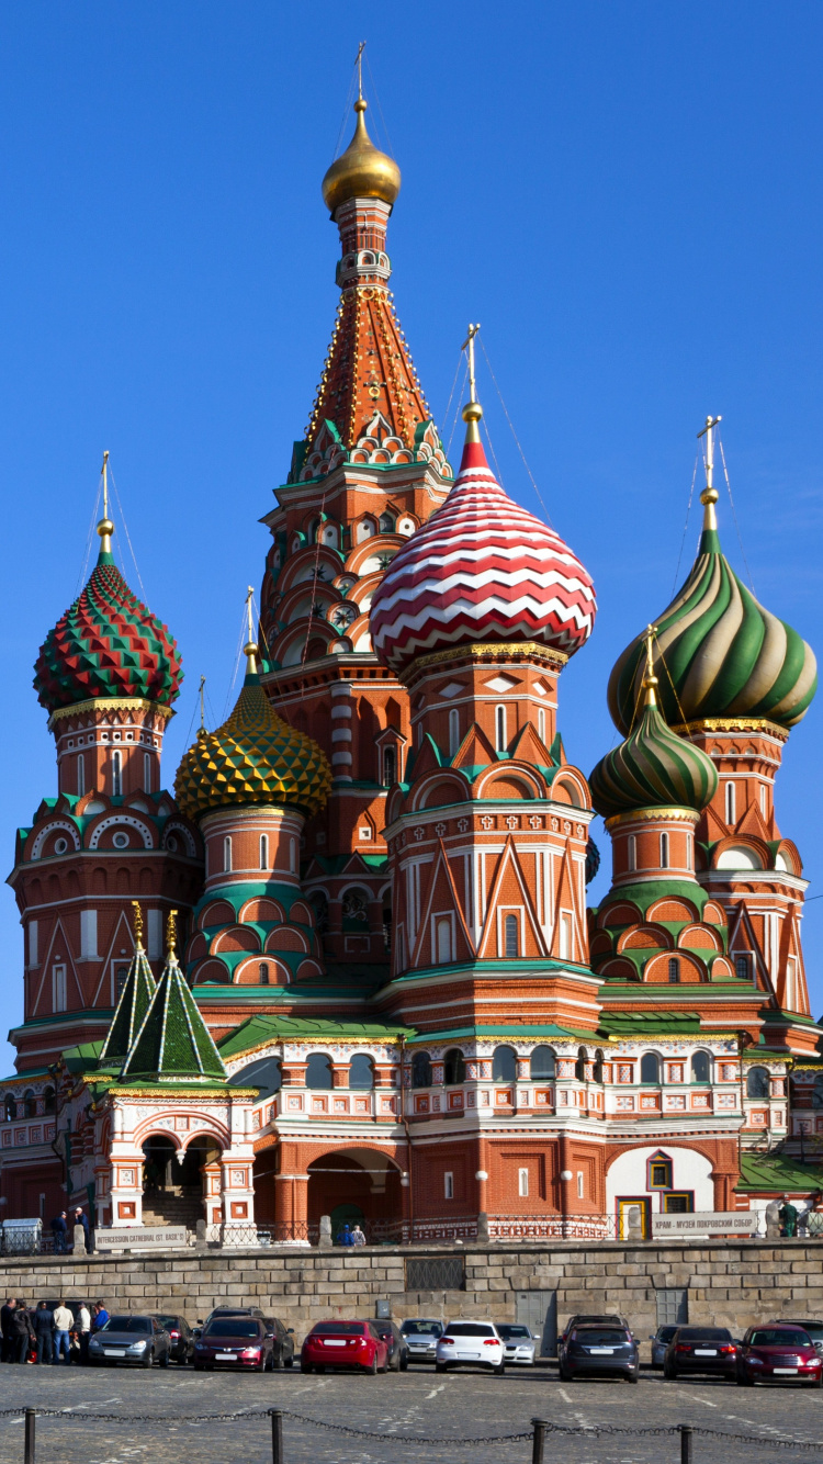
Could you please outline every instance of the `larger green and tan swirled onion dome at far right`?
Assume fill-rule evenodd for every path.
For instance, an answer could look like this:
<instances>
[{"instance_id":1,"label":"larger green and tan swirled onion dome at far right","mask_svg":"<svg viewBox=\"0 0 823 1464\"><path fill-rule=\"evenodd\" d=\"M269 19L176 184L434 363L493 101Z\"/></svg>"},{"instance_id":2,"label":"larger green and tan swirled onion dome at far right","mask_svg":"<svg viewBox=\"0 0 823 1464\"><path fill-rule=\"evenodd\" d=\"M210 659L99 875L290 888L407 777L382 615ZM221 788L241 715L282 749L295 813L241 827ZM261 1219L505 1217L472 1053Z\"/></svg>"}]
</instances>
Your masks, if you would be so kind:
<instances>
[{"instance_id":1,"label":"larger green and tan swirled onion dome at far right","mask_svg":"<svg viewBox=\"0 0 823 1464\"><path fill-rule=\"evenodd\" d=\"M660 710L675 726L704 717L766 717L791 728L817 690L814 651L738 580L720 549L716 499L709 477L701 495L706 514L697 559L656 619ZM621 732L631 728L643 654L638 635L609 678L609 712Z\"/></svg>"}]
</instances>

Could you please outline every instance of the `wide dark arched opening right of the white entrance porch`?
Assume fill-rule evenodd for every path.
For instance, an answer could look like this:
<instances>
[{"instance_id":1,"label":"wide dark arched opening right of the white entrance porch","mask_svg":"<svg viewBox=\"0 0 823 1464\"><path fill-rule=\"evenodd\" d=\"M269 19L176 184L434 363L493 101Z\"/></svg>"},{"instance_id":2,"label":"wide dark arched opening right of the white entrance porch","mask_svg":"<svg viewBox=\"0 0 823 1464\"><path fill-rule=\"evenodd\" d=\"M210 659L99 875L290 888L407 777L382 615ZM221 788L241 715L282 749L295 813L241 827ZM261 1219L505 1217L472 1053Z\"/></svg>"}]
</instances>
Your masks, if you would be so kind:
<instances>
[{"instance_id":1,"label":"wide dark arched opening right of the white entrance porch","mask_svg":"<svg viewBox=\"0 0 823 1464\"><path fill-rule=\"evenodd\" d=\"M344 1224L359 1224L369 1240L400 1236L403 1196L400 1170L388 1154L376 1149L337 1149L313 1159L308 1168L309 1227L331 1217L332 1239Z\"/></svg>"}]
</instances>

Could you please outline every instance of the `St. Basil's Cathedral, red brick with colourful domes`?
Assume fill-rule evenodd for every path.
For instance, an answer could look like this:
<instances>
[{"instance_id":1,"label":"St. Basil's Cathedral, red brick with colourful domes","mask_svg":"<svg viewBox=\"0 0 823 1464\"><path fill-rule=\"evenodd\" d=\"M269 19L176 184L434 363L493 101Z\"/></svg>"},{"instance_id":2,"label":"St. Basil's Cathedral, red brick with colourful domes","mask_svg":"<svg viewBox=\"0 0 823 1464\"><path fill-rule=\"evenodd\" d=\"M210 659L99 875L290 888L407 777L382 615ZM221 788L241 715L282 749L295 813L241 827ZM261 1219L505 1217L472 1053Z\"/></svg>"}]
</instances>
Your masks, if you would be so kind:
<instances>
[{"instance_id":1,"label":"St. Basil's Cathedral, red brick with colourful domes","mask_svg":"<svg viewBox=\"0 0 823 1464\"><path fill-rule=\"evenodd\" d=\"M400 170L354 111L322 186L340 306L234 710L165 791L182 659L107 511L37 657L57 791L9 877L3 1214L625 1237L805 1195L823 1032L775 779L814 656L723 555L709 420L697 559L612 671L622 741L570 761L595 587L491 471L473 367L454 476L390 290Z\"/></svg>"}]
</instances>

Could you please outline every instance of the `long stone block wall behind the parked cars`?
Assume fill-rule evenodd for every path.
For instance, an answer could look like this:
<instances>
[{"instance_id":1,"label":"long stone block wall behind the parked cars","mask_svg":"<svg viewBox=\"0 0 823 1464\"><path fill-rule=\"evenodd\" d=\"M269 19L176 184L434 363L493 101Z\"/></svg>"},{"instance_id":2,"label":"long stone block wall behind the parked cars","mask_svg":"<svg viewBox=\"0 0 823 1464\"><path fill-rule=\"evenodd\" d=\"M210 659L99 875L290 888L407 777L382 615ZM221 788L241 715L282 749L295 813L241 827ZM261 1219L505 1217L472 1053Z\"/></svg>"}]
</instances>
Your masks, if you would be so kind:
<instances>
[{"instance_id":1,"label":"long stone block wall behind the parked cars","mask_svg":"<svg viewBox=\"0 0 823 1464\"><path fill-rule=\"evenodd\" d=\"M407 1262L457 1258L463 1290L407 1291ZM556 1319L619 1312L638 1337L658 1325L660 1288L688 1288L688 1321L731 1326L760 1318L823 1315L823 1243L804 1240L565 1241L554 1244L414 1246L341 1250L177 1252L165 1256L0 1258L0 1291L26 1301L85 1297L110 1310L182 1312L190 1322L214 1306L271 1309L297 1337L318 1318L391 1315L523 1319L524 1293L539 1291ZM518 1300L520 1296L520 1300ZM537 1299L535 1299L537 1300ZM672 1318L674 1319L674 1318Z\"/></svg>"}]
</instances>

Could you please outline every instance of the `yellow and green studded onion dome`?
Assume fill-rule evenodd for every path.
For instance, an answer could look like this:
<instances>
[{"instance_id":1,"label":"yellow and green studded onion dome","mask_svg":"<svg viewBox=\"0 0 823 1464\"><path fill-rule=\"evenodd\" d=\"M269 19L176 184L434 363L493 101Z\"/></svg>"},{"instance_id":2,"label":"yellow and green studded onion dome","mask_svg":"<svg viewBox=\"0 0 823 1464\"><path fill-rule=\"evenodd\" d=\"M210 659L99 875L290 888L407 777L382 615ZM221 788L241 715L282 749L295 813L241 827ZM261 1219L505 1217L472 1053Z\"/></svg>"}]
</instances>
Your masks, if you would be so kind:
<instances>
[{"instance_id":1,"label":"yellow and green studded onion dome","mask_svg":"<svg viewBox=\"0 0 823 1464\"><path fill-rule=\"evenodd\" d=\"M189 818L246 804L286 804L310 817L329 788L325 752L278 717L256 672L246 676L228 720L217 732L201 729L174 780L177 804Z\"/></svg>"}]
</instances>

